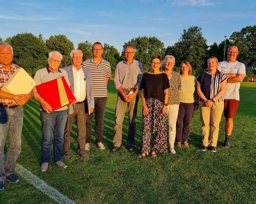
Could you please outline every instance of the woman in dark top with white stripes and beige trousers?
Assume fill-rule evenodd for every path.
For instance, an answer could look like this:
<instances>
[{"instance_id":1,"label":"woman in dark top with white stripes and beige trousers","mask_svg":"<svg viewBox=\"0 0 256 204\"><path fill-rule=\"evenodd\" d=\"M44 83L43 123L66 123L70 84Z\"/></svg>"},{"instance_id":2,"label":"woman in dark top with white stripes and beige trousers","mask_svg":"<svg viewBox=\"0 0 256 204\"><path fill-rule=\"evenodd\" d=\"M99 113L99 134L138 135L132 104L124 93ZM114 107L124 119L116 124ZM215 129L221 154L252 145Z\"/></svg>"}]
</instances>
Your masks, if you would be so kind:
<instances>
[{"instance_id":1,"label":"woman in dark top with white stripes and beige trousers","mask_svg":"<svg viewBox=\"0 0 256 204\"><path fill-rule=\"evenodd\" d=\"M223 94L226 90L227 78L217 69L218 59L207 59L208 71L198 78L197 92L200 96L199 108L202 121L202 151L207 150L209 129L211 151L217 151L219 124L224 109Z\"/></svg>"}]
</instances>

